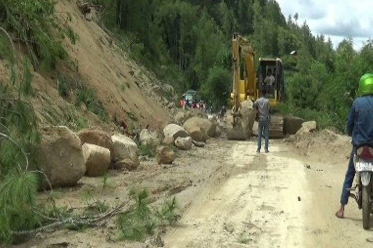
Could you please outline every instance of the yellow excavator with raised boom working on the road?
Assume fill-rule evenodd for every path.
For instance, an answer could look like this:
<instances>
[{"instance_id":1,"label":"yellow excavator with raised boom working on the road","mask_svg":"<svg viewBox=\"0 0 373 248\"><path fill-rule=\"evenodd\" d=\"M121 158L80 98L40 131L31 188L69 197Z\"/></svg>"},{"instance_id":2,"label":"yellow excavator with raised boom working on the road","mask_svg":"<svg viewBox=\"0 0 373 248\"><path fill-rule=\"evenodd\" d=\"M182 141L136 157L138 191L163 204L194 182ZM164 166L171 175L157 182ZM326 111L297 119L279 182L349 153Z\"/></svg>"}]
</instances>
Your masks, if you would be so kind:
<instances>
[{"instance_id":1,"label":"yellow excavator with raised boom working on the road","mask_svg":"<svg viewBox=\"0 0 373 248\"><path fill-rule=\"evenodd\" d=\"M256 101L261 97L261 91L266 87L271 108L276 109L283 101L284 83L283 68L280 59L260 58L258 71L255 70L255 51L250 41L244 37L234 34L232 38L233 56L233 85L232 85L232 130L231 139L242 137L242 115L241 103L247 100ZM243 70L241 69L243 67ZM267 76L272 75L272 84L266 83ZM283 118L273 116L270 125L270 136L282 138ZM237 138L241 139L241 138Z\"/></svg>"}]
</instances>

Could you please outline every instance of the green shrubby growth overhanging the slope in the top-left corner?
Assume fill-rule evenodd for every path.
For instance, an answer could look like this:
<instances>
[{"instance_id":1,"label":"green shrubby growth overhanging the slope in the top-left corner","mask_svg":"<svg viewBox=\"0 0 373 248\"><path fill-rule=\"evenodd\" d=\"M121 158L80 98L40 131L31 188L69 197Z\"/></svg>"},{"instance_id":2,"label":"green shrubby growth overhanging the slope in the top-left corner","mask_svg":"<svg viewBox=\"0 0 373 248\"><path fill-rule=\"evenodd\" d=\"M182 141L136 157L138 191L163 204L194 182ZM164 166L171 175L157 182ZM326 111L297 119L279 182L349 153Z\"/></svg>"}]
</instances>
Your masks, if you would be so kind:
<instances>
[{"instance_id":1,"label":"green shrubby growth overhanging the slope in the top-left corner","mask_svg":"<svg viewBox=\"0 0 373 248\"><path fill-rule=\"evenodd\" d=\"M56 21L54 0L0 0L0 16L4 29L26 45L33 64L47 70L55 68L57 59L66 57L62 38L76 40L71 29ZM56 30L57 39L51 38L56 37Z\"/></svg>"}]
</instances>

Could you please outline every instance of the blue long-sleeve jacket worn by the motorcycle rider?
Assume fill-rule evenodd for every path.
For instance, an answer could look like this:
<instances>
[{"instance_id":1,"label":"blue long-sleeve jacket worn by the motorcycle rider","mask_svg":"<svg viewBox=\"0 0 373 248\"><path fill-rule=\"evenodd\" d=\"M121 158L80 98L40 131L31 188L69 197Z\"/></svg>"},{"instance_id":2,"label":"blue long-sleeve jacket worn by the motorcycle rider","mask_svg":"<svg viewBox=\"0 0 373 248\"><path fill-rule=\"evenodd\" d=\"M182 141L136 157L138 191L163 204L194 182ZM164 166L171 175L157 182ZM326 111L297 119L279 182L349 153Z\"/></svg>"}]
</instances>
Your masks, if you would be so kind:
<instances>
[{"instance_id":1,"label":"blue long-sleeve jacket worn by the motorcycle rider","mask_svg":"<svg viewBox=\"0 0 373 248\"><path fill-rule=\"evenodd\" d=\"M373 96L359 97L352 105L347 133L355 146L373 144Z\"/></svg>"}]
</instances>

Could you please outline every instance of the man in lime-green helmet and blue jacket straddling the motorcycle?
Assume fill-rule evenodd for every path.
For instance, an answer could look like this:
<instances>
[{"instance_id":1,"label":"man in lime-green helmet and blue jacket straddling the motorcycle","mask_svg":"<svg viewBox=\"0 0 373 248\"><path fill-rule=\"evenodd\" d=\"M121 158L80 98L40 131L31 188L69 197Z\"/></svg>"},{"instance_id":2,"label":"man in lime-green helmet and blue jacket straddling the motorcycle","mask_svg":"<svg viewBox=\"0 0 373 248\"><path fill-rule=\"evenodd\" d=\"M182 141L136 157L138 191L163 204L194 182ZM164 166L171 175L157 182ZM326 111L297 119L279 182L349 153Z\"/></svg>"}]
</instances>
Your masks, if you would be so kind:
<instances>
[{"instance_id":1,"label":"man in lime-green helmet and blue jacket straddling the motorcycle","mask_svg":"<svg viewBox=\"0 0 373 248\"><path fill-rule=\"evenodd\" d=\"M359 83L359 98L352 105L347 122L347 132L352 136L353 149L342 188L341 208L336 213L338 218L344 217L345 205L348 203L354 177L354 154L356 148L363 144L373 144L373 73L362 76Z\"/></svg>"}]
</instances>

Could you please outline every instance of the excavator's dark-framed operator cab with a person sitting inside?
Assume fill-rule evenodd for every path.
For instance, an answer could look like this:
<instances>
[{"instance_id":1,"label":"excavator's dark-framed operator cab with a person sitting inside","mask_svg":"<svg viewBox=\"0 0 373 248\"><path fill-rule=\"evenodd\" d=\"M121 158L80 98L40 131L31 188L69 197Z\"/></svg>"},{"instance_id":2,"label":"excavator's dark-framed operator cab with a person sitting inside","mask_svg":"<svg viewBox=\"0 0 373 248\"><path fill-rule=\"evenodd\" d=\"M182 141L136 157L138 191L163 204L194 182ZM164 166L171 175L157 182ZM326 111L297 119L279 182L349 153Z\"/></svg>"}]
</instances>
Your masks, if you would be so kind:
<instances>
[{"instance_id":1,"label":"excavator's dark-framed operator cab with a person sitting inside","mask_svg":"<svg viewBox=\"0 0 373 248\"><path fill-rule=\"evenodd\" d=\"M282 61L279 58L260 58L257 77L258 98L265 88L267 92L265 97L270 99L271 107L276 108L284 97Z\"/></svg>"}]
</instances>

